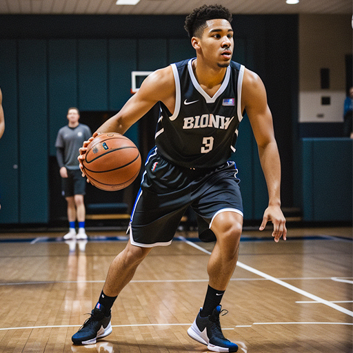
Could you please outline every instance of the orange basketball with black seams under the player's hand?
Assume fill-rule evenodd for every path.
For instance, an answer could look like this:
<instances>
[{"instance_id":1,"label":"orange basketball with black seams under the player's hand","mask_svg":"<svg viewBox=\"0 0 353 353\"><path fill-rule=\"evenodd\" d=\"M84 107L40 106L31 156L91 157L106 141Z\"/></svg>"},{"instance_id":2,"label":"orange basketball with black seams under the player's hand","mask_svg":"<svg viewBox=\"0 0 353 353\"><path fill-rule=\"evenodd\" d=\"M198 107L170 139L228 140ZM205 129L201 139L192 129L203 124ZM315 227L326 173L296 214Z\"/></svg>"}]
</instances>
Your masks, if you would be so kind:
<instances>
[{"instance_id":1,"label":"orange basketball with black seams under the player's hand","mask_svg":"<svg viewBox=\"0 0 353 353\"><path fill-rule=\"evenodd\" d=\"M83 171L90 183L105 191L126 188L139 175L141 155L136 145L121 134L99 134L88 145Z\"/></svg>"}]
</instances>

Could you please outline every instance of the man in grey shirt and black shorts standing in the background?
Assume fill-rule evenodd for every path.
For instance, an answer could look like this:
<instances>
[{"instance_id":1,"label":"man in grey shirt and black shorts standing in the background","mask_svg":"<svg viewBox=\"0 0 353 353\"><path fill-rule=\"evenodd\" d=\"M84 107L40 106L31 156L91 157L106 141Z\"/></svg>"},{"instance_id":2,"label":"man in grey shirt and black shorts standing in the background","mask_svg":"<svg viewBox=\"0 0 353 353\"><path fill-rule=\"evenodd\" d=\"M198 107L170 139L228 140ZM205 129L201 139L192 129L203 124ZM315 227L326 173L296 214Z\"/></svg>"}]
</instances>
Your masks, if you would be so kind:
<instances>
[{"instance_id":1,"label":"man in grey shirt and black shorts standing in the background","mask_svg":"<svg viewBox=\"0 0 353 353\"><path fill-rule=\"evenodd\" d=\"M80 114L77 108L68 109L68 125L61 128L57 135L57 161L60 168L61 194L68 203L69 232L63 239L87 239L85 234L85 180L81 178L77 156L83 141L92 132L87 125L79 123ZM79 232L76 234L76 219L79 222Z\"/></svg>"}]
</instances>

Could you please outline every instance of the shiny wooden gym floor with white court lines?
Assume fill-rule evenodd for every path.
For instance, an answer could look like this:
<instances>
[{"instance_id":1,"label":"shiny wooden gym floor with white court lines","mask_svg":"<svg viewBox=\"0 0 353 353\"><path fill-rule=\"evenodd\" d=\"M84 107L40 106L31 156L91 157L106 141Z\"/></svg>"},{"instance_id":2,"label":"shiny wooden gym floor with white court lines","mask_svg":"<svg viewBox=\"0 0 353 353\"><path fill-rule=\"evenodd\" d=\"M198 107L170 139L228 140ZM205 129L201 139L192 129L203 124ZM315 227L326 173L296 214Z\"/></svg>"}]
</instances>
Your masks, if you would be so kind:
<instances>
[{"instance_id":1,"label":"shiny wooden gym floor with white court lines","mask_svg":"<svg viewBox=\"0 0 353 353\"><path fill-rule=\"evenodd\" d=\"M92 310L123 232L0 234L0 353L208 352L186 330L203 304L212 243L179 232L154 248L112 309L113 332L90 346L71 336ZM119 235L119 236L117 236ZM222 304L239 352L352 352L352 228L294 228L276 244L244 230Z\"/></svg>"}]
</instances>

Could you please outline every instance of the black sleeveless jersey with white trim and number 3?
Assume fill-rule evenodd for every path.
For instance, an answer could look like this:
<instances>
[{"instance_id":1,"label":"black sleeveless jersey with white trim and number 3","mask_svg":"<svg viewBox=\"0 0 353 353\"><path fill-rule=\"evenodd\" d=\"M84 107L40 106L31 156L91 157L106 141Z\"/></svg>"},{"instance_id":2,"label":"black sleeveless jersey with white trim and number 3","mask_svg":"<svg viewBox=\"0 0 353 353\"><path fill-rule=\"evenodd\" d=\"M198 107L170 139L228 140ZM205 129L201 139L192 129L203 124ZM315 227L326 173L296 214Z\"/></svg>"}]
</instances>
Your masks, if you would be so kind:
<instances>
[{"instance_id":1,"label":"black sleeveless jersey with white trim and number 3","mask_svg":"<svg viewBox=\"0 0 353 353\"><path fill-rule=\"evenodd\" d=\"M231 61L219 90L210 97L196 80L194 59L172 63L176 88L171 114L160 103L156 130L159 152L185 168L214 168L235 151L244 66Z\"/></svg>"}]
</instances>

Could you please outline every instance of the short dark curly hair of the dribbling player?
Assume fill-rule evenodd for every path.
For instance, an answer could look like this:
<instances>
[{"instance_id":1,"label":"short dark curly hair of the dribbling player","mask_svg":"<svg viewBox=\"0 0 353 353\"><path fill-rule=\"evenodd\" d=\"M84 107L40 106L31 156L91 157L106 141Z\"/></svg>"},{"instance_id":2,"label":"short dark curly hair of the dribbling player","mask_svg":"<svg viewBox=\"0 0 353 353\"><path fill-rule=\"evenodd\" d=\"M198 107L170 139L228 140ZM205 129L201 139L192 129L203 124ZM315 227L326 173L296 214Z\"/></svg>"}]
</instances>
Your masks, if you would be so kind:
<instances>
[{"instance_id":1,"label":"short dark curly hair of the dribbling player","mask_svg":"<svg viewBox=\"0 0 353 353\"><path fill-rule=\"evenodd\" d=\"M210 19L226 19L232 22L232 14L221 5L203 5L201 8L195 8L185 19L185 30L189 37L201 36L206 27L206 21Z\"/></svg>"}]
</instances>

